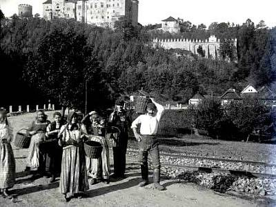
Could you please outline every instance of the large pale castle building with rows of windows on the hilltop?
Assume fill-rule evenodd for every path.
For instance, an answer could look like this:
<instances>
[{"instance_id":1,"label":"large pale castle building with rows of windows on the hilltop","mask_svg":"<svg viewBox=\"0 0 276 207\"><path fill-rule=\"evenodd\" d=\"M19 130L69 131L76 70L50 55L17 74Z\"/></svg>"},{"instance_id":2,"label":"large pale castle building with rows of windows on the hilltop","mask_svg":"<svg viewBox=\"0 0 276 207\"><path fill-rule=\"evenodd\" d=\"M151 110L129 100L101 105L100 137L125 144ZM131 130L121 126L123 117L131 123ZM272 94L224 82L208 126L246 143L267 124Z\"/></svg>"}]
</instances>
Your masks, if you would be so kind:
<instances>
[{"instance_id":1,"label":"large pale castle building with rows of windows on the hilltop","mask_svg":"<svg viewBox=\"0 0 276 207\"><path fill-rule=\"evenodd\" d=\"M115 21L127 19L136 26L138 4L137 0L47 0L43 3L43 18L76 19L111 28Z\"/></svg>"}]
</instances>

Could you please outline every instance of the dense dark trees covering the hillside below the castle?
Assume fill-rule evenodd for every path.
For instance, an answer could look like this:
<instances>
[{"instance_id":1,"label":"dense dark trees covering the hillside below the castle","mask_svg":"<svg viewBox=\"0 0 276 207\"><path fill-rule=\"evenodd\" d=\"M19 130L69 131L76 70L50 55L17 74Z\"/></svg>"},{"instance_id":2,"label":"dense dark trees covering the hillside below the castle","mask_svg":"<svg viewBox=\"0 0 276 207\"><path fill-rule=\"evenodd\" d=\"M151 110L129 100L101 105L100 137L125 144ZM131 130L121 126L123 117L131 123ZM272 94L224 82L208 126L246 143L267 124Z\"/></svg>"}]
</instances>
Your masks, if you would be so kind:
<instances>
[{"instance_id":1,"label":"dense dark trees covering the hillside below the castle","mask_svg":"<svg viewBox=\"0 0 276 207\"><path fill-rule=\"evenodd\" d=\"M237 57L231 41L224 41L221 51L237 63L152 48L152 35L167 34L135 28L127 21L116 23L115 30L16 15L7 22L1 23L1 71L9 77L4 85L13 84L18 91L8 91L4 105L21 103L24 96L26 101L52 99L83 110L86 81L88 106L103 108L141 87L168 101L186 103L198 91L221 95L228 88L241 90L248 80L257 86L275 80L275 30L268 30L264 22L256 27L250 20L243 26L213 23L208 30L188 21L181 26L177 35L189 38L237 38Z\"/></svg>"}]
</instances>

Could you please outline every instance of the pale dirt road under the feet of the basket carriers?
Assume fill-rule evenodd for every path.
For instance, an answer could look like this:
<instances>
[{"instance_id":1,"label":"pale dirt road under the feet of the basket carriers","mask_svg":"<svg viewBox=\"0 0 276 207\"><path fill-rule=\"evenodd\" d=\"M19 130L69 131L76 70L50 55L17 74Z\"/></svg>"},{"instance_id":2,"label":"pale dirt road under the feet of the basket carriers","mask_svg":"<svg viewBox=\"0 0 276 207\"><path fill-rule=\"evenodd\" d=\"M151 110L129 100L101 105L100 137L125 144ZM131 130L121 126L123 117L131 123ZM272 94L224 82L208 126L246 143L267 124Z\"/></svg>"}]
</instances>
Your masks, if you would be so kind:
<instances>
[{"instance_id":1,"label":"pale dirt road under the feet of the basket carriers","mask_svg":"<svg viewBox=\"0 0 276 207\"><path fill-rule=\"evenodd\" d=\"M11 117L14 131L30 124L34 115ZM99 183L90 186L86 197L72 199L67 204L61 201L59 181L48 184L48 179L31 180L23 169L26 166L25 158L28 150L14 148L17 161L17 184L11 193L11 199L0 197L0 206L257 206L251 201L219 195L211 190L202 190L199 186L179 184L177 181L162 180L161 184L167 190L157 191L152 184L146 188L139 188L139 168L128 163L127 177L120 181L111 181L110 184ZM111 157L112 160L112 157ZM112 161L111 161L112 162Z\"/></svg>"}]
</instances>

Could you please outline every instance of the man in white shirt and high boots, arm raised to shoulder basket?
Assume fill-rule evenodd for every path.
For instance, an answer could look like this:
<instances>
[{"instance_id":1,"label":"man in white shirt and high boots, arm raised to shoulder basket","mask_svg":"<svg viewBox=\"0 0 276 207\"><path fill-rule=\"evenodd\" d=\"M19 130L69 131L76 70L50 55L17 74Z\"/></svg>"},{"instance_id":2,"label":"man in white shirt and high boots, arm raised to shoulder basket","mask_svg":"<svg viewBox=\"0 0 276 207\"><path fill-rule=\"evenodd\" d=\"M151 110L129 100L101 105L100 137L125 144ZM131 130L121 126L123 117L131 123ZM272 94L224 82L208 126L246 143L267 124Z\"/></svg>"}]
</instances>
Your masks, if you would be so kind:
<instances>
[{"instance_id":1,"label":"man in white shirt and high boots, arm raised to shoulder basket","mask_svg":"<svg viewBox=\"0 0 276 207\"><path fill-rule=\"evenodd\" d=\"M160 159L159 148L157 142L157 129L162 113L165 108L159 103L151 99L152 103L146 106L146 114L140 115L132 122L132 130L139 146L139 162L141 164L141 177L143 181L139 184L140 187L148 185L148 152L152 159L153 166L153 182L157 190L165 190L160 184ZM137 132L138 125L140 132Z\"/></svg>"}]
</instances>

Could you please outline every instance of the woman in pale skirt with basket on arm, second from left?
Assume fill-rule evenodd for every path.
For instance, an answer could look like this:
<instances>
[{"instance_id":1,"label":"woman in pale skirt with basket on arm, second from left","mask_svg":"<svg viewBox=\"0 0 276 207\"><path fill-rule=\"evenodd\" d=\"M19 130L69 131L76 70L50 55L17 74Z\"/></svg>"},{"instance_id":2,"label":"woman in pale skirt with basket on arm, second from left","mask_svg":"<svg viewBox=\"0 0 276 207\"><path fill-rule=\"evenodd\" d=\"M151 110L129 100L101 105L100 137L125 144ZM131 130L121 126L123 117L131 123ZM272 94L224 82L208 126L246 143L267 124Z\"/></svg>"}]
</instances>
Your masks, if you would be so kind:
<instances>
[{"instance_id":1,"label":"woman in pale skirt with basket on arm, second from left","mask_svg":"<svg viewBox=\"0 0 276 207\"><path fill-rule=\"evenodd\" d=\"M36 119L32 121L30 128L28 128L28 134L32 137L26 170L32 170L40 175L45 173L45 157L39 149L39 144L41 141L45 141L48 124L50 124L50 121L47 120L47 115L43 110L38 110Z\"/></svg>"}]
</instances>

